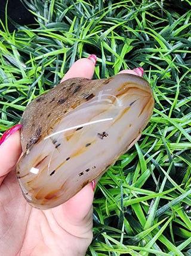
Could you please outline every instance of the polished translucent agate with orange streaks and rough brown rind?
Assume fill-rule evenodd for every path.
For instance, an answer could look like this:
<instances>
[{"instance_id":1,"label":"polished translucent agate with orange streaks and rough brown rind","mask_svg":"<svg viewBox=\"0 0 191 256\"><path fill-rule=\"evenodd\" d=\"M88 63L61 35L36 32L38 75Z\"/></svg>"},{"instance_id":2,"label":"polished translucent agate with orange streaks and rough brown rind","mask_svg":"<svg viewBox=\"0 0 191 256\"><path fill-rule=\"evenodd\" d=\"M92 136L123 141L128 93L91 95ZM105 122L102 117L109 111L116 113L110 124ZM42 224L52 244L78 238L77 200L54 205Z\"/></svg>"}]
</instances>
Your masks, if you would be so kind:
<instances>
[{"instance_id":1,"label":"polished translucent agate with orange streaks and rough brown rind","mask_svg":"<svg viewBox=\"0 0 191 256\"><path fill-rule=\"evenodd\" d=\"M149 83L133 74L68 79L35 98L21 118L24 198L38 209L69 200L126 152L153 105Z\"/></svg>"}]
</instances>

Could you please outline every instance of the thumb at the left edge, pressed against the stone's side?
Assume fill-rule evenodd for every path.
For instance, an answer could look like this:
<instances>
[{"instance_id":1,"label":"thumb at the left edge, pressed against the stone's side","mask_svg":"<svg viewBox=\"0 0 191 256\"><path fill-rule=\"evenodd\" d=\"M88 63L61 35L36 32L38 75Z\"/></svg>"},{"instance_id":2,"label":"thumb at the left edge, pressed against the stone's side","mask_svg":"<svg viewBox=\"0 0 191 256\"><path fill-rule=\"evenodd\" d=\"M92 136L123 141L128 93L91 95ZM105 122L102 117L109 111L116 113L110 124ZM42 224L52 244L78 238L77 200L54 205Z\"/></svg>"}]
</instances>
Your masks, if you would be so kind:
<instances>
[{"instance_id":1,"label":"thumb at the left edge, pressed against the stone's side","mask_svg":"<svg viewBox=\"0 0 191 256\"><path fill-rule=\"evenodd\" d=\"M21 155L20 132L11 134L0 146L0 185L4 177L16 165Z\"/></svg>"}]
</instances>

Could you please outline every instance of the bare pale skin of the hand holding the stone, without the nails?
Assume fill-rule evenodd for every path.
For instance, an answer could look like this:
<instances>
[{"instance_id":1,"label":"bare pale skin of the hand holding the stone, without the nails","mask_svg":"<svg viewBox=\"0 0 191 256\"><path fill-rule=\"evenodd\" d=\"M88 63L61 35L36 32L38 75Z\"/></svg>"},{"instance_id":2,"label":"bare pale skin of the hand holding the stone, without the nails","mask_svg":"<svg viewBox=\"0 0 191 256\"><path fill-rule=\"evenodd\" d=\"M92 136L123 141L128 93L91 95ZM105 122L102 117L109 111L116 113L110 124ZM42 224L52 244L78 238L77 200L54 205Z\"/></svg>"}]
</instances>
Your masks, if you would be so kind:
<instances>
[{"instance_id":1,"label":"bare pale skin of the hand holding the stone, without the nails","mask_svg":"<svg viewBox=\"0 0 191 256\"><path fill-rule=\"evenodd\" d=\"M94 62L79 59L61 81L72 77L91 79L93 74ZM17 182L20 155L20 133L16 131L0 146L0 252L4 256L85 255L93 238L92 183L58 207L35 209L24 200Z\"/></svg>"}]
</instances>

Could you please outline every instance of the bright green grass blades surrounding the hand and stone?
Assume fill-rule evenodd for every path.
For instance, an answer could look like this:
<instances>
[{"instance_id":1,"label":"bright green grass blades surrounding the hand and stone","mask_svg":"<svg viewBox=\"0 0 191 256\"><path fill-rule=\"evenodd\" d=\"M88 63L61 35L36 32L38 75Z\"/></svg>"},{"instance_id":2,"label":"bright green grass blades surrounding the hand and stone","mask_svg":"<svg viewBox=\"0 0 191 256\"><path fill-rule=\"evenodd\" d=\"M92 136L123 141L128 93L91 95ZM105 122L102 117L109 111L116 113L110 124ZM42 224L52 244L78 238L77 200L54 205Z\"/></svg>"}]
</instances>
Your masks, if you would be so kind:
<instances>
[{"instance_id":1,"label":"bright green grass blades surrounding the hand and stone","mask_svg":"<svg viewBox=\"0 0 191 256\"><path fill-rule=\"evenodd\" d=\"M97 55L94 79L143 67L155 109L96 186L87 256L190 255L190 1L23 2L36 24L0 31L1 134L78 58Z\"/></svg>"}]
</instances>

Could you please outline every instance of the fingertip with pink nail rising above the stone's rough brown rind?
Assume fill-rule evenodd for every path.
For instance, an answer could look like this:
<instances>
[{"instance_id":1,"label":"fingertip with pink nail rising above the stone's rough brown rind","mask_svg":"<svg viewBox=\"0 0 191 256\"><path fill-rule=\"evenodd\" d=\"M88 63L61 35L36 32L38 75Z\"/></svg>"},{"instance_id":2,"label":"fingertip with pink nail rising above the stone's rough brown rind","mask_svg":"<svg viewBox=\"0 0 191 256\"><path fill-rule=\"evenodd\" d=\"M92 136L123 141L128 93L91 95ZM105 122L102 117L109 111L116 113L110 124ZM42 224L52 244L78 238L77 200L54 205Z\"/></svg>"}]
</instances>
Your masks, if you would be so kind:
<instances>
[{"instance_id":1,"label":"fingertip with pink nail rising above the stone's rough brown rind","mask_svg":"<svg viewBox=\"0 0 191 256\"><path fill-rule=\"evenodd\" d=\"M67 71L61 82L72 77L85 77L92 79L96 65L96 55L90 55L88 58L78 59Z\"/></svg>"}]
</instances>

